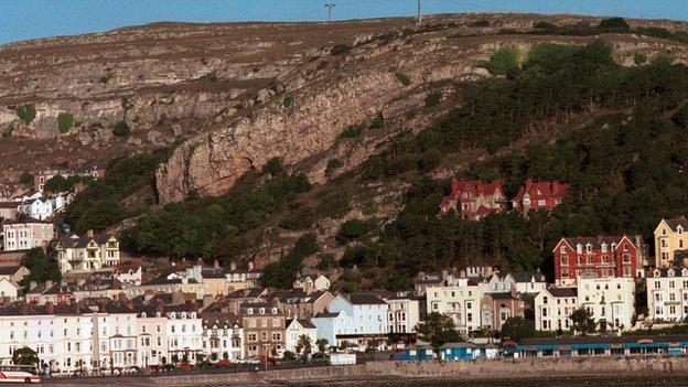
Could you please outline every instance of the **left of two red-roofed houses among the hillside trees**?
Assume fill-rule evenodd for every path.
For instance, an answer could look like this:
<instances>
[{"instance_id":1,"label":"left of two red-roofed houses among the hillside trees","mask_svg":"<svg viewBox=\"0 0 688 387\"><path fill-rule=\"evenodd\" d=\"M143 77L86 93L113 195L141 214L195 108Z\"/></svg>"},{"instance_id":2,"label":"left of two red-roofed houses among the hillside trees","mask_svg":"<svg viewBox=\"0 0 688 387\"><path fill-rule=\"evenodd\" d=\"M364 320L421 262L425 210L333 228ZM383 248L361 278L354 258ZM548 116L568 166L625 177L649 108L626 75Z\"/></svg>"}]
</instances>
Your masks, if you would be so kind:
<instances>
[{"instance_id":1,"label":"left of two red-roofed houses among the hillside trees","mask_svg":"<svg viewBox=\"0 0 688 387\"><path fill-rule=\"evenodd\" d=\"M440 215L454 209L462 219L479 221L504 208L504 189L501 181L488 184L477 180L451 181L451 194L440 203Z\"/></svg>"}]
</instances>

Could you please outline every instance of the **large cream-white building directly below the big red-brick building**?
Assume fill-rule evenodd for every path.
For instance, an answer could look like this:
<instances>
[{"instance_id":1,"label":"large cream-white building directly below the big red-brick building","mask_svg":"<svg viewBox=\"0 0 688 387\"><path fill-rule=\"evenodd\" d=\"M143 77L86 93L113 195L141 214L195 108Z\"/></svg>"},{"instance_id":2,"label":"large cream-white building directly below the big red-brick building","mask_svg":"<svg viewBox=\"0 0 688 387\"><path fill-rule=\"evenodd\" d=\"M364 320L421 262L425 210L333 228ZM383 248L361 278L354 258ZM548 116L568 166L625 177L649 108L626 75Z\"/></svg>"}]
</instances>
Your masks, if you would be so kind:
<instances>
[{"instance_id":1,"label":"large cream-white building directly below the big red-brick building","mask_svg":"<svg viewBox=\"0 0 688 387\"><path fill-rule=\"evenodd\" d=\"M633 278L579 278L578 305L592 312L599 326L630 330L635 315Z\"/></svg>"}]
</instances>

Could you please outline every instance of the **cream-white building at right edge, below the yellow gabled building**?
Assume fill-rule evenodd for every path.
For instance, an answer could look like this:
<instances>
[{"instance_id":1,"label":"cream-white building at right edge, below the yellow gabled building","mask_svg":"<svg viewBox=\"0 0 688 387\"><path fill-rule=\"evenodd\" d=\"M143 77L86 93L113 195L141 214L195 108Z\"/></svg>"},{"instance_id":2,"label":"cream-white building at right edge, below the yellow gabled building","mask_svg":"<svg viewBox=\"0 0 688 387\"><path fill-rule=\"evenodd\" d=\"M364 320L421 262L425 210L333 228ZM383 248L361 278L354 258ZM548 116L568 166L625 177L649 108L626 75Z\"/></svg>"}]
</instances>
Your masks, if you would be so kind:
<instances>
[{"instance_id":1,"label":"cream-white building at right edge, below the yellow gabled building","mask_svg":"<svg viewBox=\"0 0 688 387\"><path fill-rule=\"evenodd\" d=\"M682 322L688 316L688 269L655 270L647 278L649 320Z\"/></svg>"}]
</instances>

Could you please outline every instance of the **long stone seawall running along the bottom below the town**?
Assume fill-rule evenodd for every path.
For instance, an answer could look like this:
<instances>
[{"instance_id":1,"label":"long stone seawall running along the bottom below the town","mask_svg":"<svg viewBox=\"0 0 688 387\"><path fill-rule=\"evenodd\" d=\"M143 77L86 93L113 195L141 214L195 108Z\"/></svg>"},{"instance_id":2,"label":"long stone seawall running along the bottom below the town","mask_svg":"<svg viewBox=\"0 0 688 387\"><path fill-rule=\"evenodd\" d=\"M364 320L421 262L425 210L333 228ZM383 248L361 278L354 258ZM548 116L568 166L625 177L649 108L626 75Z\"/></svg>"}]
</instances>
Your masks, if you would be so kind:
<instances>
[{"instance_id":1,"label":"long stone seawall running along the bottom below the town","mask_svg":"<svg viewBox=\"0 0 688 387\"><path fill-rule=\"evenodd\" d=\"M269 385L404 385L426 383L546 381L555 378L686 377L688 357L523 358L453 363L370 362L352 366L323 366L245 373L174 376L122 376L46 379L44 385L71 386L269 386Z\"/></svg>"}]
</instances>

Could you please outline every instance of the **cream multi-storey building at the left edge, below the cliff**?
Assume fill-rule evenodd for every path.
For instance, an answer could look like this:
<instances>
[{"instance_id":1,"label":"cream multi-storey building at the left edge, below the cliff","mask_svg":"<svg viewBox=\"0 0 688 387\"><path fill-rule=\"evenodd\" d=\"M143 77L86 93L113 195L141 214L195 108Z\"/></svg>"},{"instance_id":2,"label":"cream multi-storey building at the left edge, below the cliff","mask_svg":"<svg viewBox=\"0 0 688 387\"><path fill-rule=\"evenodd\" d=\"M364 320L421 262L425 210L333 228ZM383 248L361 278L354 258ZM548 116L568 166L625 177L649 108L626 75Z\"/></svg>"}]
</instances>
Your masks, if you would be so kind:
<instances>
[{"instance_id":1,"label":"cream multi-storey building at the left edge, below the cliff","mask_svg":"<svg viewBox=\"0 0 688 387\"><path fill-rule=\"evenodd\" d=\"M55 227L51 222L20 216L2 224L3 247L6 251L46 248L55 237Z\"/></svg>"}]
</instances>

